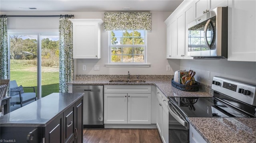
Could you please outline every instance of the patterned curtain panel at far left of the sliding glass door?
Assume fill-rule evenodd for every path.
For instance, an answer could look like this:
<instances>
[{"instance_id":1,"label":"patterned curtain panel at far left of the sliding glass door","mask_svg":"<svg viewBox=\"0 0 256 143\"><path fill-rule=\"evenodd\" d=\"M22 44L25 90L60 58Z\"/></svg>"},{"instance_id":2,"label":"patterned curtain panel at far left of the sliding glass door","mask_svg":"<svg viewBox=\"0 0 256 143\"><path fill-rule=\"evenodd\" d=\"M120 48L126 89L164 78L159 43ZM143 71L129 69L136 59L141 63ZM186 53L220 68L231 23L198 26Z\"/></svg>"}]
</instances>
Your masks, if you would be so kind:
<instances>
[{"instance_id":1,"label":"patterned curtain panel at far left of the sliding glass door","mask_svg":"<svg viewBox=\"0 0 256 143\"><path fill-rule=\"evenodd\" d=\"M0 78L9 79L7 17L0 16Z\"/></svg>"}]
</instances>

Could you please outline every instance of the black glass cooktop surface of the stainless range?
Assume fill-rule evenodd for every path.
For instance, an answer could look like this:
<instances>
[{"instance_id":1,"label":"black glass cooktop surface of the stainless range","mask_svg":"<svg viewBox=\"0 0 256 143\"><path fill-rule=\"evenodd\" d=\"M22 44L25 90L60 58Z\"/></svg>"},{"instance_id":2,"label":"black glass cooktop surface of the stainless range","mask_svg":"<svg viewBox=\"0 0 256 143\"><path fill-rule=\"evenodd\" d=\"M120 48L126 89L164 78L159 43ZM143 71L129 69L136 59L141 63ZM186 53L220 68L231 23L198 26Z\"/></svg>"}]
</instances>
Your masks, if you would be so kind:
<instances>
[{"instance_id":1,"label":"black glass cooktop surface of the stainless range","mask_svg":"<svg viewBox=\"0 0 256 143\"><path fill-rule=\"evenodd\" d=\"M214 92L214 97L169 97L186 117L255 117L256 107Z\"/></svg>"}]
</instances>

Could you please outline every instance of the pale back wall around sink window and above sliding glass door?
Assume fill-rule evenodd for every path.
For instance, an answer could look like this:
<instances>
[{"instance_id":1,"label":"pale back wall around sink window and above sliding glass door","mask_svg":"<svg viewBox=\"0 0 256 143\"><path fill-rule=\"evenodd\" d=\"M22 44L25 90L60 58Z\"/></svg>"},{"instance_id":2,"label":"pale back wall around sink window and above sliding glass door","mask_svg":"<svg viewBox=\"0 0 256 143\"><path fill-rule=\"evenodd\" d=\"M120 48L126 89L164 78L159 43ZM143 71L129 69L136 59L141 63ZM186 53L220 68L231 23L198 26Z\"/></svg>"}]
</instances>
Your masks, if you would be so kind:
<instances>
[{"instance_id":1,"label":"pale back wall around sink window and above sliding glass door","mask_svg":"<svg viewBox=\"0 0 256 143\"><path fill-rule=\"evenodd\" d=\"M74 18L101 18L104 20L104 12L1 12L6 15L64 15L74 14ZM166 25L164 21L171 12L152 12L152 30L147 35L147 61L149 68L128 67L104 67L108 64L108 32L102 25L102 53L101 59L75 59L75 74L174 74L178 70L179 60L168 61L166 59ZM8 18L8 29L58 29L58 17L56 18ZM171 71L166 71L166 65L171 65ZM87 70L82 70L82 65ZM94 71L94 65L100 66L100 71Z\"/></svg>"}]
</instances>

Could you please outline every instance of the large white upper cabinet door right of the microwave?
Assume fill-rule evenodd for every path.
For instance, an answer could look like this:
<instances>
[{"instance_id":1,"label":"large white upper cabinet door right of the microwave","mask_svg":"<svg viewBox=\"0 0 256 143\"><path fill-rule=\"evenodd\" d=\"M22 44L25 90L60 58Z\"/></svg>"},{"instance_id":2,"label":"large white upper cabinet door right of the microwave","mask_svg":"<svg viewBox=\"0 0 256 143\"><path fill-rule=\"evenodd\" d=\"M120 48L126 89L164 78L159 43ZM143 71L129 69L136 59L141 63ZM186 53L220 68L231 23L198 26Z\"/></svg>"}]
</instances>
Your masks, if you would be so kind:
<instances>
[{"instance_id":1,"label":"large white upper cabinet door right of the microwave","mask_svg":"<svg viewBox=\"0 0 256 143\"><path fill-rule=\"evenodd\" d=\"M228 1L228 61L256 62L256 1Z\"/></svg>"}]
</instances>

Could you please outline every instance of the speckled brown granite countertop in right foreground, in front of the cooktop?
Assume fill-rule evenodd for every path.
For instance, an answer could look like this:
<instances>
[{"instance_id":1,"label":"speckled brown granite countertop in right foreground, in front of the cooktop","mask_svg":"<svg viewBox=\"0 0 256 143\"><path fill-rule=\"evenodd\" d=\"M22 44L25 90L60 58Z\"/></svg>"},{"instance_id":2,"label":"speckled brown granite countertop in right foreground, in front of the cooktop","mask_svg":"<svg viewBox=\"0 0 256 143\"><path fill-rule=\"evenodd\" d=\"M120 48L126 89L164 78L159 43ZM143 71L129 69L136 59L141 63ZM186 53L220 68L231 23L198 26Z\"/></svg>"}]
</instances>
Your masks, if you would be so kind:
<instances>
[{"instance_id":1,"label":"speckled brown granite countertop in right foreground, in front of the cooktop","mask_svg":"<svg viewBox=\"0 0 256 143\"><path fill-rule=\"evenodd\" d=\"M256 118L188 118L207 143L255 143Z\"/></svg>"}]
</instances>

